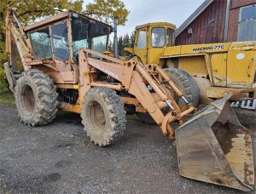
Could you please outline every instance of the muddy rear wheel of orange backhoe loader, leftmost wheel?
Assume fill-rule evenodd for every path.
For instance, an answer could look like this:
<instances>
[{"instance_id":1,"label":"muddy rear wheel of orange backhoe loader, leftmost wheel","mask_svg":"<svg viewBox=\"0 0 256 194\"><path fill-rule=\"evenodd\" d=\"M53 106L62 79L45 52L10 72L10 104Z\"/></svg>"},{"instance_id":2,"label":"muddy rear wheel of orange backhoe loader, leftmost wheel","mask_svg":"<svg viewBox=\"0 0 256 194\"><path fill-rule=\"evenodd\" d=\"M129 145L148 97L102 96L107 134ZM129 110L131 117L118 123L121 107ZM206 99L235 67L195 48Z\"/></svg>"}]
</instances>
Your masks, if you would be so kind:
<instances>
[{"instance_id":1,"label":"muddy rear wheel of orange backhoe loader, leftmost wheel","mask_svg":"<svg viewBox=\"0 0 256 194\"><path fill-rule=\"evenodd\" d=\"M29 126L50 123L57 112L55 85L38 70L22 72L15 86L15 102L20 121Z\"/></svg>"}]
</instances>

